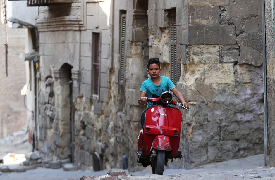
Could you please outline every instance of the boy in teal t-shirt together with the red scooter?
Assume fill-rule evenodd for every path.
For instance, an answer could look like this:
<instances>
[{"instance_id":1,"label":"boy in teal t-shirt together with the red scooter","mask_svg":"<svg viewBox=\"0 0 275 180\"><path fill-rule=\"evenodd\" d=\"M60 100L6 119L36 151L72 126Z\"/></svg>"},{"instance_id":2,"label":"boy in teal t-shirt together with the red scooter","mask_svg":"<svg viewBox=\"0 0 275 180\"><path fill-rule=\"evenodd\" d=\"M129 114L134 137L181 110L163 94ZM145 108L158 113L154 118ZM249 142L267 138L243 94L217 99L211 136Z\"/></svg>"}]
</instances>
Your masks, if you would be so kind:
<instances>
[{"instance_id":1,"label":"boy in teal t-shirt together with the red scooter","mask_svg":"<svg viewBox=\"0 0 275 180\"><path fill-rule=\"evenodd\" d=\"M150 58L147 67L151 77L142 83L138 99L140 105L147 103L147 108L142 113L143 129L137 138L137 162L144 167L151 165L153 174L163 174L168 159L173 162L174 158L182 157L178 151L182 114L172 105L187 110L189 105L169 78L159 76L161 68L158 58ZM169 90L182 104L173 101Z\"/></svg>"}]
</instances>

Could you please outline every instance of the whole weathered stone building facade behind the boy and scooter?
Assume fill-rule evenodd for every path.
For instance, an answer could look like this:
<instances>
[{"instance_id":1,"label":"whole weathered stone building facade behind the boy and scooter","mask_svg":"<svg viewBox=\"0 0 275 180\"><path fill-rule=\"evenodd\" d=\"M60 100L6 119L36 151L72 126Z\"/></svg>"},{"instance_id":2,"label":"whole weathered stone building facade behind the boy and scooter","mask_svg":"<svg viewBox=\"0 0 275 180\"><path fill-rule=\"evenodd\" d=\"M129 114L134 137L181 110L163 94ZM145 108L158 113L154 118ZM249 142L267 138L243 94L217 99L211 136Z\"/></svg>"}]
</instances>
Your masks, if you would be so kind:
<instances>
[{"instance_id":1,"label":"whole weathered stone building facade behind the boy and scooter","mask_svg":"<svg viewBox=\"0 0 275 180\"><path fill-rule=\"evenodd\" d=\"M63 1L62 1L63 2ZM264 153L262 4L232 0L39 3L35 147L82 169L137 165L147 60L190 111L174 167Z\"/></svg>"}]
</instances>

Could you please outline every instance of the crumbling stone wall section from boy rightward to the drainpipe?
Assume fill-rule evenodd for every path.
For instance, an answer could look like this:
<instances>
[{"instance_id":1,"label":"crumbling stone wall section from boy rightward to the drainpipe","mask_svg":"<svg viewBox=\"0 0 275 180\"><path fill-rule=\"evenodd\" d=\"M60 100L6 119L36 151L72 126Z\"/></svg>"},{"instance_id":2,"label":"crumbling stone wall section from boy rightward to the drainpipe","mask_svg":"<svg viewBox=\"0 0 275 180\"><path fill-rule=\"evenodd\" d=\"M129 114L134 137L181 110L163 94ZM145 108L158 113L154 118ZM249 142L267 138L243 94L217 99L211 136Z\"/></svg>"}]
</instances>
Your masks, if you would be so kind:
<instances>
[{"instance_id":1,"label":"crumbling stone wall section from boy rightward to the drainpipe","mask_svg":"<svg viewBox=\"0 0 275 180\"><path fill-rule=\"evenodd\" d=\"M161 2L149 1L151 20L157 19L148 22L154 37L150 57L159 57L164 70L167 64L169 69L162 52L170 41L169 15L162 15L176 8L182 62L177 88L191 105L190 112L183 112L184 161L176 160L174 166L192 168L263 153L261 2L188 1L188 9Z\"/></svg>"}]
</instances>

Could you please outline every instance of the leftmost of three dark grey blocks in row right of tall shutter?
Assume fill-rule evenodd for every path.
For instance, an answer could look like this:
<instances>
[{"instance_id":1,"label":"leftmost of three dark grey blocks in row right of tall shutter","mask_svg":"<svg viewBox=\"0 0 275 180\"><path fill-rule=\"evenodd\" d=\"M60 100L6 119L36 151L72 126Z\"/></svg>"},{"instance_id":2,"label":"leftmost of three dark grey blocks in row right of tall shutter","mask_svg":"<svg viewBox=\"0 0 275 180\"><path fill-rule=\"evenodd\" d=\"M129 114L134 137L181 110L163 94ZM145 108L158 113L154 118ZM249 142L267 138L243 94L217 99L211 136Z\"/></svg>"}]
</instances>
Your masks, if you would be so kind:
<instances>
[{"instance_id":1,"label":"leftmost of three dark grey blocks in row right of tall shutter","mask_svg":"<svg viewBox=\"0 0 275 180\"><path fill-rule=\"evenodd\" d=\"M205 27L200 25L188 26L188 37L188 45L204 44Z\"/></svg>"}]
</instances>

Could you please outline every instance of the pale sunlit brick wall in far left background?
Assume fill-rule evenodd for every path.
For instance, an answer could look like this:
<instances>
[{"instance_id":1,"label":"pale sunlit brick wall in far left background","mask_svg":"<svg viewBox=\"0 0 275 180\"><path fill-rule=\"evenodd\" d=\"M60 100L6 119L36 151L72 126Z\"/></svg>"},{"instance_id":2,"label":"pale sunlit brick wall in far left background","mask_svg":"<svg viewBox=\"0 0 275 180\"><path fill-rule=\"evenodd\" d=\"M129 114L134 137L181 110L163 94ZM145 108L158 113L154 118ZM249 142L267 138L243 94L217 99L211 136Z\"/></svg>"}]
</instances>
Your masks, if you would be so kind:
<instances>
[{"instance_id":1,"label":"pale sunlit brick wall in far left background","mask_svg":"<svg viewBox=\"0 0 275 180\"><path fill-rule=\"evenodd\" d=\"M21 131L27 125L24 96L20 91L26 82L26 64L20 59L25 52L25 29L8 28L8 76L6 76L6 25L0 25L0 138Z\"/></svg>"}]
</instances>

